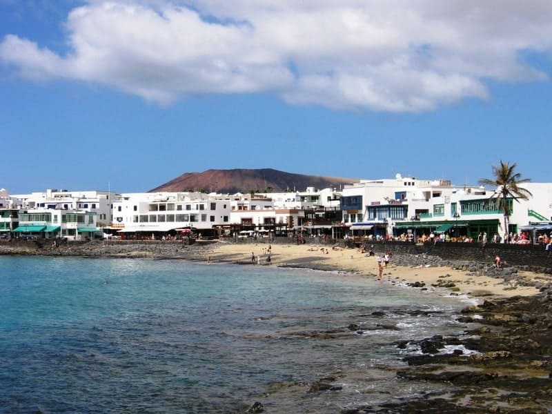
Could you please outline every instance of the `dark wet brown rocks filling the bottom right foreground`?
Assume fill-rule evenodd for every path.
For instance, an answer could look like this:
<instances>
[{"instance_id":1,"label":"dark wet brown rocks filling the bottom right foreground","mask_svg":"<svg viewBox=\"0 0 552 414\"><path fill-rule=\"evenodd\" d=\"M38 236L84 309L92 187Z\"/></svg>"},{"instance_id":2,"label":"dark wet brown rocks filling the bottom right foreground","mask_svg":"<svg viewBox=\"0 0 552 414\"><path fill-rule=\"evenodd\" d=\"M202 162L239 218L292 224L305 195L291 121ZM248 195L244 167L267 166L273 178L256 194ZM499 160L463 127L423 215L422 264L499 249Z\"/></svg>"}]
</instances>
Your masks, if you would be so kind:
<instances>
[{"instance_id":1,"label":"dark wet brown rocks filling the bottom right foreground","mask_svg":"<svg viewBox=\"0 0 552 414\"><path fill-rule=\"evenodd\" d=\"M404 357L408 368L397 371L398 378L449 383L455 391L433 396L431 407L422 395L388 404L390 411L373 412L547 412L552 406L552 304L547 295L493 299L464 308L461 318L479 326L461 336L397 343L401 349L420 346L423 352ZM451 344L469 352L443 353Z\"/></svg>"}]
</instances>

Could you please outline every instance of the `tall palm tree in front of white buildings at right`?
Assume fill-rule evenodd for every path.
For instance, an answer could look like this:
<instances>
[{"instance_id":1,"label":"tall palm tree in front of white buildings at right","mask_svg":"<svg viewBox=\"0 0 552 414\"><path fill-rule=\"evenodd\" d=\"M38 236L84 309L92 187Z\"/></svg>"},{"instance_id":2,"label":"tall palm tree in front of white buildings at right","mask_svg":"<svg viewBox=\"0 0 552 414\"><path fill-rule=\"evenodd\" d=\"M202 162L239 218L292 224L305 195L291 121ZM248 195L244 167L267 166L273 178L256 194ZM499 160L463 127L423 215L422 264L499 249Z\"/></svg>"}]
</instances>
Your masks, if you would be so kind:
<instances>
[{"instance_id":1,"label":"tall palm tree in front of white buildings at right","mask_svg":"<svg viewBox=\"0 0 552 414\"><path fill-rule=\"evenodd\" d=\"M519 172L515 172L516 164L510 164L500 160L500 166L493 166L493 179L482 178L479 180L483 186L494 186L495 192L485 201L484 206L493 203L495 208L502 206L504 212L504 233L508 233L508 217L510 216L510 206L508 198L511 197L519 202L519 199L528 200L533 195L529 190L520 187L520 184L528 183L530 178L522 179Z\"/></svg>"}]
</instances>

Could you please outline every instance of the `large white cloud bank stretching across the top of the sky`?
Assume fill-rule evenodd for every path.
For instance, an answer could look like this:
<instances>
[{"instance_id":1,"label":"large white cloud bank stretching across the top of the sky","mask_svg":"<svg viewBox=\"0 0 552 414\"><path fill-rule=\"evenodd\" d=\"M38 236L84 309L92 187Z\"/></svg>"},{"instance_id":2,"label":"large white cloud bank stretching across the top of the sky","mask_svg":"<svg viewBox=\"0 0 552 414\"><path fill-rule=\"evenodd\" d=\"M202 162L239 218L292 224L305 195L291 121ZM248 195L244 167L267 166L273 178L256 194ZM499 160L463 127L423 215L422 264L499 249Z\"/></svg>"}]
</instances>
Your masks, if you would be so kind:
<instances>
[{"instance_id":1,"label":"large white cloud bank stretching across the top of the sky","mask_svg":"<svg viewBox=\"0 0 552 414\"><path fill-rule=\"evenodd\" d=\"M66 55L8 34L0 61L29 79L100 83L162 104L273 92L290 103L431 110L485 98L484 80L546 74L552 3L517 0L90 0Z\"/></svg>"}]
</instances>

